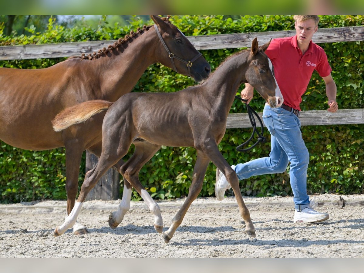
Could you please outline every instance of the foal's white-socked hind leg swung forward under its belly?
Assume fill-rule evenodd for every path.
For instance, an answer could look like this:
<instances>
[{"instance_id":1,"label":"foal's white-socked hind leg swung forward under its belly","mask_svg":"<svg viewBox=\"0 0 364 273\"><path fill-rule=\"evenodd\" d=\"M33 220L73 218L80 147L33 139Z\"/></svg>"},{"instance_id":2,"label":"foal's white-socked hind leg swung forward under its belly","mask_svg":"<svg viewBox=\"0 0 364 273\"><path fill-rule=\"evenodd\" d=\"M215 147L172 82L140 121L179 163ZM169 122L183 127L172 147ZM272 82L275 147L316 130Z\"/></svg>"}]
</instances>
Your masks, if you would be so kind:
<instances>
[{"instance_id":1,"label":"foal's white-socked hind leg swung forward under its belly","mask_svg":"<svg viewBox=\"0 0 364 273\"><path fill-rule=\"evenodd\" d=\"M144 189L138 178L139 171L142 169L143 165L153 157L153 155L161 148L161 146L149 142L135 142L134 145L135 152L132 157L120 168L120 173L126 177L126 179L146 202L151 213L154 215L154 229L157 230L157 232L162 233L163 219L161 215L161 209L153 200L153 198L151 198L149 193Z\"/></svg>"}]
</instances>

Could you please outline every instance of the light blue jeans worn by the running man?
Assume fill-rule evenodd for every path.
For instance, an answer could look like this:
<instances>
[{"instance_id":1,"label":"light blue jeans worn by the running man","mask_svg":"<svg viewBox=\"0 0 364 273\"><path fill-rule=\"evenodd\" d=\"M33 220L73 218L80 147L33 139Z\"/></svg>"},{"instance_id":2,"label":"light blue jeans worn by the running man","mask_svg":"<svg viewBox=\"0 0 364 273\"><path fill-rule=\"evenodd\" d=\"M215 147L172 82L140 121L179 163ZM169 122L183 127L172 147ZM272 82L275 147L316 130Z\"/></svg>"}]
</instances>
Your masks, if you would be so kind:
<instances>
[{"instance_id":1,"label":"light blue jeans worn by the running man","mask_svg":"<svg viewBox=\"0 0 364 273\"><path fill-rule=\"evenodd\" d=\"M302 139L300 119L283 108L265 105L263 120L271 134L269 157L232 167L239 179L246 179L254 175L283 173L290 162L289 179L294 208L301 211L309 206L310 200L306 187L309 153Z\"/></svg>"}]
</instances>

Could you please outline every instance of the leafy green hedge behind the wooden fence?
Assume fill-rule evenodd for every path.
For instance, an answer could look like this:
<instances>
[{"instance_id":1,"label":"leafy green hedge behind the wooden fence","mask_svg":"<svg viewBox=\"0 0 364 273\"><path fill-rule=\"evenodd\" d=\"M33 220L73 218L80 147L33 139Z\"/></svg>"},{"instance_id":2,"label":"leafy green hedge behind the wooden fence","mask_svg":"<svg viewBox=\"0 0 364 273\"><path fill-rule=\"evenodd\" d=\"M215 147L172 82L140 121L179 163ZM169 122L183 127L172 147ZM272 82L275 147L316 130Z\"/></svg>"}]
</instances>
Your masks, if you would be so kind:
<instances>
[{"instance_id":1,"label":"leafy green hedge behind the wooden fence","mask_svg":"<svg viewBox=\"0 0 364 273\"><path fill-rule=\"evenodd\" d=\"M279 31L294 29L292 16L172 16L171 21L187 36L219 33ZM98 29L84 27L65 28L50 20L48 30L32 36L7 37L0 25L0 45L60 43L70 41L117 39L135 30L145 22L135 17L130 25L109 25L104 18ZM151 22L149 22L151 24ZM356 26L364 24L364 16L321 16L320 28ZM337 85L337 102L340 109L364 108L363 72L364 42L320 44L333 68ZM226 56L240 49L201 51L211 68L216 68ZM13 60L0 62L0 67L43 68L63 59ZM160 64L150 66L134 90L138 92L174 92L195 84L193 80L176 74ZM250 103L262 111L264 100L255 95ZM327 98L325 84L314 73L303 96L302 110L325 110ZM231 113L245 112L245 106L236 101ZM312 193L364 193L364 125L303 126L302 134L310 153L308 192ZM265 143L248 153L238 153L235 147L251 134L250 128L228 129L219 145L229 164L246 162L269 155L270 145ZM266 133L268 134L268 133ZM269 140L269 137L268 137ZM19 202L37 199L65 199L64 149L26 151L0 143L0 202ZM132 152L132 148L131 148ZM84 157L79 185L84 177ZM162 147L141 170L140 179L154 198L175 198L188 194L195 162L193 148ZM214 195L216 167L210 164L200 196ZM289 168L288 168L289 171ZM291 195L288 171L283 174L263 175L240 181L244 195ZM122 191L122 187L121 187ZM122 192L120 192L121 196ZM228 194L232 194L230 191ZM140 198L134 193L134 199Z\"/></svg>"}]
</instances>

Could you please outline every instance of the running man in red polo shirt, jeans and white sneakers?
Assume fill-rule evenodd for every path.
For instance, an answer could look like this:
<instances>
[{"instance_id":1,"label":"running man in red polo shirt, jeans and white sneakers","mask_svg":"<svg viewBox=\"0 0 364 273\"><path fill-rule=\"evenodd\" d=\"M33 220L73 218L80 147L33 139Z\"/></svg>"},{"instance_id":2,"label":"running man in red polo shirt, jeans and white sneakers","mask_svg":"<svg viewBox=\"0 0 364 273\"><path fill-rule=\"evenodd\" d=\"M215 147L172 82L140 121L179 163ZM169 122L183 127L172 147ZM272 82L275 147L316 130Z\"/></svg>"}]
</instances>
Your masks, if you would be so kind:
<instances>
[{"instance_id":1,"label":"running man in red polo shirt, jeans and white sneakers","mask_svg":"<svg viewBox=\"0 0 364 273\"><path fill-rule=\"evenodd\" d=\"M254 175L283 173L290 162L290 185L293 191L293 222L321 222L329 218L328 213L319 213L312 209L306 191L306 177L309 153L302 139L300 119L298 118L302 101L313 70L323 78L328 97L328 111L338 110L336 102L336 84L331 76L331 67L324 50L312 42L317 31L316 15L295 15L296 35L273 39L265 54L274 67L274 75L283 95L281 107L270 108L265 105L263 120L271 134L271 152L269 157L258 158L246 163L233 165L239 179ZM241 98L249 103L253 98L253 87L245 84ZM219 169L216 171L215 194L218 200L224 198L230 184Z\"/></svg>"}]
</instances>

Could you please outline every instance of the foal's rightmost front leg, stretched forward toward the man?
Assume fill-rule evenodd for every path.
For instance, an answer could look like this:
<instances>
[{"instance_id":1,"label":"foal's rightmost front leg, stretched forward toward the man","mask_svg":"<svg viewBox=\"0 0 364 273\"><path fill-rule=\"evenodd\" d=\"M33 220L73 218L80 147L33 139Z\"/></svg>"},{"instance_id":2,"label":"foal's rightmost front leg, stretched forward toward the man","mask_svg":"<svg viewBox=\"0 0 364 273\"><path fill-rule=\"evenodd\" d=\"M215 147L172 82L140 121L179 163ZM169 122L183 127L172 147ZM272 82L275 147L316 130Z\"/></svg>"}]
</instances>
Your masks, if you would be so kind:
<instances>
[{"instance_id":1,"label":"foal's rightmost front leg, stretched forward toward the man","mask_svg":"<svg viewBox=\"0 0 364 273\"><path fill-rule=\"evenodd\" d=\"M220 153L217 145L210 145L210 149L208 149L209 157L211 161L215 164L216 167L225 175L227 181L230 183L236 200L238 202L239 211L241 217L244 219L246 227L245 232L250 237L256 237L255 228L250 219L250 213L248 208L245 206L243 197L241 196L240 187L239 187L239 179L236 175L235 171L230 167L230 165L226 162L225 158L223 158L222 154Z\"/></svg>"}]
</instances>

